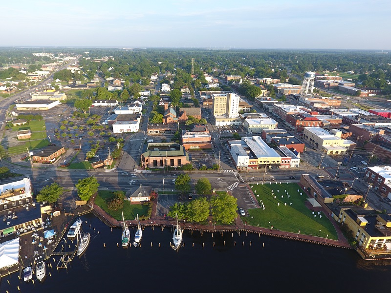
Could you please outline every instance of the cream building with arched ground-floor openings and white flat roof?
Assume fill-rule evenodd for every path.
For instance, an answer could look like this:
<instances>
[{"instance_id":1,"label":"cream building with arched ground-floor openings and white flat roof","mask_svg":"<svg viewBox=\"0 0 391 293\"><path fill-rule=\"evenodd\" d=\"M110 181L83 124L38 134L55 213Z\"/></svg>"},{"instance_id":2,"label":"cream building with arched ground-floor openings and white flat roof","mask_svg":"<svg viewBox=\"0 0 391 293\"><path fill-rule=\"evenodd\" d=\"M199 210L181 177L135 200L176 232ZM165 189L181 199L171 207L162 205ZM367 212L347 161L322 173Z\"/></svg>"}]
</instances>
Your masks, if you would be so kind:
<instances>
[{"instance_id":1,"label":"cream building with arched ground-floor openings and white flat roof","mask_svg":"<svg viewBox=\"0 0 391 293\"><path fill-rule=\"evenodd\" d=\"M356 146L356 143L350 140L341 139L319 126L305 127L303 139L311 146L321 149L326 154L330 155L344 154L348 149Z\"/></svg>"}]
</instances>

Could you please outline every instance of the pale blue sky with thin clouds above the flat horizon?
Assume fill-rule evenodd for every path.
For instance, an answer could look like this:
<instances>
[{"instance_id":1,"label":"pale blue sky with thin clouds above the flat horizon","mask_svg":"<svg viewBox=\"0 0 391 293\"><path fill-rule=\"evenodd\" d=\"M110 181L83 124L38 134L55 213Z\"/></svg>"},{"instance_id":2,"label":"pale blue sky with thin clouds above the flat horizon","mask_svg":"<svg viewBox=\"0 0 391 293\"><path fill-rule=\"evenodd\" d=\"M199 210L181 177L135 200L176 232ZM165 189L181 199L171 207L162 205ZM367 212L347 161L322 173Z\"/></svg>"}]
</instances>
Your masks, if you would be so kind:
<instances>
[{"instance_id":1,"label":"pale blue sky with thin clouds above the flat horizon","mask_svg":"<svg viewBox=\"0 0 391 293\"><path fill-rule=\"evenodd\" d=\"M1 46L391 50L389 0L2 1Z\"/></svg>"}]
</instances>

